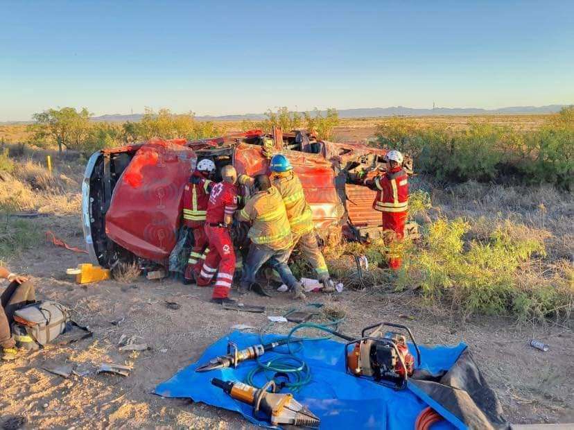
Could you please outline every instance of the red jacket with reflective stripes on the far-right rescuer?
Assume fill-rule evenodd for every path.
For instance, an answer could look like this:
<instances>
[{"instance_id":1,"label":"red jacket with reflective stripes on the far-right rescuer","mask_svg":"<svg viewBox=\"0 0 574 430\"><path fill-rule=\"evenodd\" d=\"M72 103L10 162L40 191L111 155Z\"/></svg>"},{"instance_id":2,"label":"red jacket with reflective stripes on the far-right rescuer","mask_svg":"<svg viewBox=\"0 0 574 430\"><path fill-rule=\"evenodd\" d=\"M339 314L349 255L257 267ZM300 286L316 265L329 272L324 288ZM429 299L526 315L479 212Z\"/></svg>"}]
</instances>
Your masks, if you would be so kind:
<instances>
[{"instance_id":1,"label":"red jacket with reflective stripes on the far-right rescuer","mask_svg":"<svg viewBox=\"0 0 574 430\"><path fill-rule=\"evenodd\" d=\"M370 186L377 191L373 209L379 212L407 212L408 176L400 167L376 176Z\"/></svg>"}]
</instances>

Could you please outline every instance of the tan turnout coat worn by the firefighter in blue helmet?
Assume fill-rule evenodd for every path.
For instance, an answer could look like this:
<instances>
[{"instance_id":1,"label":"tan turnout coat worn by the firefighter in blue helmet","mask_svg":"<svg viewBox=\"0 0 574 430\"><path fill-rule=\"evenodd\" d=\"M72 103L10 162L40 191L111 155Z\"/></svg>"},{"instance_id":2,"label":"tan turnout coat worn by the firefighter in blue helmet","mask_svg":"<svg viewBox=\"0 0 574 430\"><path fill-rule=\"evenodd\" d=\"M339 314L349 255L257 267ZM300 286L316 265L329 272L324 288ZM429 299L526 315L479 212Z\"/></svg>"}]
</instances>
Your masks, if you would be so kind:
<instances>
[{"instance_id":1,"label":"tan turnout coat worn by the firefighter in blue helmet","mask_svg":"<svg viewBox=\"0 0 574 430\"><path fill-rule=\"evenodd\" d=\"M287 218L293 234L304 234L313 230L313 212L305 200L301 181L295 173L288 176L271 176L271 182L283 198Z\"/></svg>"}]
</instances>

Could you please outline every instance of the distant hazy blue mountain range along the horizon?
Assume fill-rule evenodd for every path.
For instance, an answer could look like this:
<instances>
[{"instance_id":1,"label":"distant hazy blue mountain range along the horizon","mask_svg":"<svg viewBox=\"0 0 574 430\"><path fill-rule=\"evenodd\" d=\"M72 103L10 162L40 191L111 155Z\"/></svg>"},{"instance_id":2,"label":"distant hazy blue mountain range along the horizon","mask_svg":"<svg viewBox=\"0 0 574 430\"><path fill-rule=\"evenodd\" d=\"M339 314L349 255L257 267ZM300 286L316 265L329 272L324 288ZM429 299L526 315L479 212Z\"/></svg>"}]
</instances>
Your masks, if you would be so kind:
<instances>
[{"instance_id":1,"label":"distant hazy blue mountain range along the horizon","mask_svg":"<svg viewBox=\"0 0 574 430\"><path fill-rule=\"evenodd\" d=\"M499 109L480 109L478 107L435 107L435 109L417 109L414 107L360 107L358 109L338 110L340 118L376 118L376 117L429 117L433 115L487 115L487 114L552 114L567 105L547 106L510 106ZM325 111L322 111L324 114ZM94 121L125 122L139 121L142 114L108 114L92 118ZM236 114L236 115L203 115L195 117L199 121L242 121L265 119L265 114Z\"/></svg>"}]
</instances>

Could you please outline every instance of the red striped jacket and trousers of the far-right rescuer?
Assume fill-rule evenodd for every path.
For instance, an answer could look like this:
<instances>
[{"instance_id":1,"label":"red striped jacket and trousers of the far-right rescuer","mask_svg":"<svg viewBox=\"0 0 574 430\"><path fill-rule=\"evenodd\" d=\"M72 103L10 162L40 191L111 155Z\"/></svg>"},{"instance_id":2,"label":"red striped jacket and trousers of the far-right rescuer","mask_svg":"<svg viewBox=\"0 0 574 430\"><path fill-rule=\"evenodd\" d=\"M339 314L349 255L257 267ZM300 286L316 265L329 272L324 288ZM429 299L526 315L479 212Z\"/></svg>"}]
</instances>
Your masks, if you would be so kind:
<instances>
[{"instance_id":1,"label":"red striped jacket and trousers of the far-right rescuer","mask_svg":"<svg viewBox=\"0 0 574 430\"><path fill-rule=\"evenodd\" d=\"M394 167L383 176L366 180L367 187L377 191L373 209L381 212L383 228L392 230L395 239L403 239L408 211L408 176L400 166ZM392 256L389 266L392 269L401 267L401 257Z\"/></svg>"}]
</instances>

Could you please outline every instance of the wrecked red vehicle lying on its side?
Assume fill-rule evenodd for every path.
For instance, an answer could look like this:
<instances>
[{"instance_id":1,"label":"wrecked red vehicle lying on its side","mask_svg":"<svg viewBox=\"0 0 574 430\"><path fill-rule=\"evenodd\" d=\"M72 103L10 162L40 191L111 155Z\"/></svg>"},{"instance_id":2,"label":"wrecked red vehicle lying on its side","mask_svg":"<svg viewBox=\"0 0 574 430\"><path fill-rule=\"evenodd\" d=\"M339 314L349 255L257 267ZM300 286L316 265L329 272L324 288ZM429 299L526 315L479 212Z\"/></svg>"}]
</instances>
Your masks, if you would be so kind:
<instances>
[{"instance_id":1,"label":"wrecked red vehicle lying on its side","mask_svg":"<svg viewBox=\"0 0 574 430\"><path fill-rule=\"evenodd\" d=\"M385 150L316 141L306 132L280 130L275 135L251 130L198 141L154 138L90 157L82 212L92 258L107 267L130 254L165 264L181 225L184 185L198 160L214 160L217 171L233 164L240 174L268 173L263 139L274 139L274 150L281 150L293 164L323 239L331 234L374 234L379 229L380 214L371 208L374 191L346 184L346 178L347 172L383 164Z\"/></svg>"}]
</instances>

